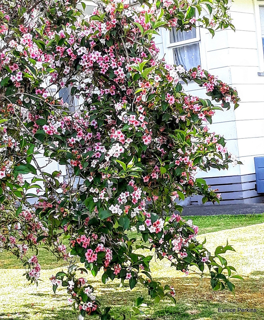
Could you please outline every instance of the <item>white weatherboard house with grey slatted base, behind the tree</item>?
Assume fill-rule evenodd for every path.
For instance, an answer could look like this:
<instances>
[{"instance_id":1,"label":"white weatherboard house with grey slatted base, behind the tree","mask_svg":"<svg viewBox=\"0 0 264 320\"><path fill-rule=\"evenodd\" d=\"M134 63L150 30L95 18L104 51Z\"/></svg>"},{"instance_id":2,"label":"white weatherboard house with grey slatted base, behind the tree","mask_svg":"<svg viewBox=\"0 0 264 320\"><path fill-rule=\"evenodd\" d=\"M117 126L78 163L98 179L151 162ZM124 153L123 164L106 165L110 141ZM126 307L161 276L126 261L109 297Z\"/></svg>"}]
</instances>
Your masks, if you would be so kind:
<instances>
[{"instance_id":1,"label":"white weatherboard house with grey slatted base, behind the tree","mask_svg":"<svg viewBox=\"0 0 264 320\"><path fill-rule=\"evenodd\" d=\"M90 14L95 4L85 2ZM237 89L239 108L217 111L210 130L224 136L228 151L243 165L230 166L228 171L198 172L197 177L219 189L221 204L262 203L264 193L256 191L254 157L264 156L264 0L235 0L230 13L235 32L217 30L212 38L199 28L182 34L162 30L155 41L168 63L183 64L186 69L201 65ZM207 97L205 89L196 84L189 84L186 91ZM201 198L191 197L184 203L201 204Z\"/></svg>"}]
</instances>

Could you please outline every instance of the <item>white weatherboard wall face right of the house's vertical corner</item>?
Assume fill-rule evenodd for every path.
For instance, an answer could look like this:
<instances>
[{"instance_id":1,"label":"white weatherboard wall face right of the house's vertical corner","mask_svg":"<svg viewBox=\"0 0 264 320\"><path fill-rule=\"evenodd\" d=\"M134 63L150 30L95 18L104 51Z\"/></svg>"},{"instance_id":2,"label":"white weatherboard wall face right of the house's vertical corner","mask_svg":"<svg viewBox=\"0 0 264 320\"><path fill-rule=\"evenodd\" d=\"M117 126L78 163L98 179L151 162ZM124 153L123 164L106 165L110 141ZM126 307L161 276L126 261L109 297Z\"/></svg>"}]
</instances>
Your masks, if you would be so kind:
<instances>
[{"instance_id":1,"label":"white weatherboard wall face right of the house's vertical corner","mask_svg":"<svg viewBox=\"0 0 264 320\"><path fill-rule=\"evenodd\" d=\"M254 173L254 156L264 154L264 77L258 76L258 72L264 71L264 57L262 44L258 43L260 17L255 10L261 4L264 1L238 0L231 7L234 25L240 30L235 41L240 46L235 48L233 44L230 48L231 56L237 58L231 58L230 71L232 85L242 102L235 110L239 160L244 164L240 166L242 175ZM248 31L252 31L250 42L245 41Z\"/></svg>"}]
</instances>

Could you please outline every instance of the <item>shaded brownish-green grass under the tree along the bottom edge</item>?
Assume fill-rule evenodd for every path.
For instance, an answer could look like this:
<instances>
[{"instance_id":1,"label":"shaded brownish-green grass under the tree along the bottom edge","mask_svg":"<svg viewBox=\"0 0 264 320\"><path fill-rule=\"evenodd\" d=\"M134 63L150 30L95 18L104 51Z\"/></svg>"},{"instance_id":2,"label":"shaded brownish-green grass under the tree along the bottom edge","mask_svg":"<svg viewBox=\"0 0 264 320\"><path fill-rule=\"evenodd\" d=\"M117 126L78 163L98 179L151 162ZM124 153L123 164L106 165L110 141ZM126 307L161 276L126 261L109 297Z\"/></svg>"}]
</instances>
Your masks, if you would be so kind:
<instances>
[{"instance_id":1,"label":"shaded brownish-green grass under the tree along the bottom edge","mask_svg":"<svg viewBox=\"0 0 264 320\"><path fill-rule=\"evenodd\" d=\"M261 271L256 271L256 275L262 275ZM210 281L201 280L199 277L175 277L157 278L162 284L173 284L176 290L177 303L174 305L171 300L161 300L154 303L147 295L147 290L143 285L137 285L132 291L128 284L122 288L119 283L108 282L107 284L90 281L94 284L95 295L102 303L102 307L111 305L112 309L122 312L131 309L137 297L143 296L148 308L142 308L145 316L144 320L264 320L264 278L254 279L246 277L245 281L235 280L235 297L228 291L213 292L210 289ZM61 290L59 290L60 292ZM38 293L39 303L34 305L28 303L20 306L20 314L6 312L0 314L0 320L76 320L77 313L67 306L67 294ZM31 293L31 295L34 295ZM65 306L45 308L41 302L41 297L49 300L65 301ZM56 305L56 304L55 304ZM237 308L256 308L257 311L238 312ZM219 312L220 309L234 309L235 312ZM11 310L10 310L11 311ZM88 319L88 318L87 318Z\"/></svg>"}]
</instances>

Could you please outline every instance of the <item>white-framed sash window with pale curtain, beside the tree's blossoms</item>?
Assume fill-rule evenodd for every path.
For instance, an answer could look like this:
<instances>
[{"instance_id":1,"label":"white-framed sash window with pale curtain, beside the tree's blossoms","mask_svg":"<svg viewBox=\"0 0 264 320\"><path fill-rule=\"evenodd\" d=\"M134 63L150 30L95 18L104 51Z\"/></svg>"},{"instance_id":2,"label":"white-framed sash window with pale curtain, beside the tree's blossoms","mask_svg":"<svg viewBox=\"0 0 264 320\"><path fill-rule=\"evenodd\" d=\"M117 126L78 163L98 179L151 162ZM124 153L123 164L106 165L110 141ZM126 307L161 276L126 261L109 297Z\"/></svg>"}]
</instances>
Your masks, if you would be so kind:
<instances>
[{"instance_id":1,"label":"white-framed sash window with pale curtain, beside the tree's blossoms","mask_svg":"<svg viewBox=\"0 0 264 320\"><path fill-rule=\"evenodd\" d=\"M183 65L186 70L201 65L200 33L196 28L188 31L176 31L172 28L169 33L169 44L174 63Z\"/></svg>"}]
</instances>

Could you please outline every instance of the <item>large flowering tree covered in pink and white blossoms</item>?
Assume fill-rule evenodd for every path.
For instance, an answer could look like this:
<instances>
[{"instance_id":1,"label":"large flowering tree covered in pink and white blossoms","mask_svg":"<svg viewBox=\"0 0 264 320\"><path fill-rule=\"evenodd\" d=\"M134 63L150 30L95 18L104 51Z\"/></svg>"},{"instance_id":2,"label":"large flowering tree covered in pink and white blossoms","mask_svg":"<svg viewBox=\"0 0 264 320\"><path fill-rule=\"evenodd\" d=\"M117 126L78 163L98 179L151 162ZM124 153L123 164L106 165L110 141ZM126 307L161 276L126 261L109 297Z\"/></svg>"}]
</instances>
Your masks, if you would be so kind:
<instances>
[{"instance_id":1,"label":"large flowering tree covered in pink and white blossoms","mask_svg":"<svg viewBox=\"0 0 264 320\"><path fill-rule=\"evenodd\" d=\"M239 276L220 254L233 248L208 252L175 200L197 194L219 202L195 172L234 162L206 123L221 109L212 101L228 109L239 98L200 66L166 64L153 41L160 28L234 28L227 1L103 0L85 18L78 5L0 4L0 247L21 259L33 283L38 247L67 260L68 271L51 281L54 292L67 289L80 317L116 318L77 270L103 269L103 283L118 278L132 289L140 282L155 301L174 300L174 289L151 277L152 255L134 249L154 249L186 274L206 267L214 290L232 291L230 278ZM210 99L187 94L182 81L205 87ZM67 103L59 94L66 87ZM38 155L61 171L48 171ZM29 249L36 255L27 257Z\"/></svg>"}]
</instances>

